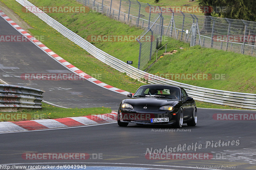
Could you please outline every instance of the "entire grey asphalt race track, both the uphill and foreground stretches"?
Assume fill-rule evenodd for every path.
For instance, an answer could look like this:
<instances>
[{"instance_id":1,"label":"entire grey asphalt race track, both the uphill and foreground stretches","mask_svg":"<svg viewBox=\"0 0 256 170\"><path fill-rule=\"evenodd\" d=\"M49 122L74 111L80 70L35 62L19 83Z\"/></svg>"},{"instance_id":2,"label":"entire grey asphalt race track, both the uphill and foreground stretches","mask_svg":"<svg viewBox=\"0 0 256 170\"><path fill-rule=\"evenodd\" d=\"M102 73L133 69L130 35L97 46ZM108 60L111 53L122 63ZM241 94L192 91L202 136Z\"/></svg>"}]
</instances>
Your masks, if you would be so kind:
<instances>
[{"instance_id":1,"label":"entire grey asphalt race track, both the uphill and foreground stretches","mask_svg":"<svg viewBox=\"0 0 256 170\"><path fill-rule=\"evenodd\" d=\"M0 32L1 35L18 34L2 18L0 18ZM51 103L65 107L116 107L124 98L124 95L98 87L89 81L27 82L21 80L19 76L22 73L49 73L65 70L65 67L59 65L30 42L1 42L0 53L1 79L10 84L43 89L45 90L44 100ZM236 166L236 169L256 169L255 120L214 120L213 115L216 113L249 114L255 113L255 110L198 109L197 125L188 127L185 124L180 130L170 126L136 124L118 127L116 123L113 123L3 133L0 134L2 166L0 169L6 169L4 165L11 167L13 165L86 165L86 169L100 169L101 167L101 169L140 170L199 169L197 166L212 166L202 169L234 169L232 166ZM238 143L233 146L217 145L214 147L213 145L211 147L210 145L206 148L206 144L215 144L218 141L238 141ZM191 151L185 147L178 153L209 153L213 155L213 159L149 160L145 158L147 148L158 150L166 146L167 148L184 144L194 146L196 142L198 145L202 144L201 149ZM86 160L30 160L22 158L24 153L88 153L90 158ZM16 167L16 169L28 168Z\"/></svg>"}]
</instances>

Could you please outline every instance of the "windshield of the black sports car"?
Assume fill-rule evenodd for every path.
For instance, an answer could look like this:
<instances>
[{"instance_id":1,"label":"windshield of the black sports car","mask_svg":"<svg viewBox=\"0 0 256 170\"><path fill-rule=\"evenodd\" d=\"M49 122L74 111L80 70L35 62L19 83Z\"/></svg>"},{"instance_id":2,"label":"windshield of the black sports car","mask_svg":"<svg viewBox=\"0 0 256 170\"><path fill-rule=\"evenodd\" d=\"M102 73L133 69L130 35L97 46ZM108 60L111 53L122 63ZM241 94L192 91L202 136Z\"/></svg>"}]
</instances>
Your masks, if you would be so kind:
<instances>
[{"instance_id":1,"label":"windshield of the black sports car","mask_svg":"<svg viewBox=\"0 0 256 170\"><path fill-rule=\"evenodd\" d=\"M180 100L180 89L168 86L140 87L133 97L164 97Z\"/></svg>"}]
</instances>

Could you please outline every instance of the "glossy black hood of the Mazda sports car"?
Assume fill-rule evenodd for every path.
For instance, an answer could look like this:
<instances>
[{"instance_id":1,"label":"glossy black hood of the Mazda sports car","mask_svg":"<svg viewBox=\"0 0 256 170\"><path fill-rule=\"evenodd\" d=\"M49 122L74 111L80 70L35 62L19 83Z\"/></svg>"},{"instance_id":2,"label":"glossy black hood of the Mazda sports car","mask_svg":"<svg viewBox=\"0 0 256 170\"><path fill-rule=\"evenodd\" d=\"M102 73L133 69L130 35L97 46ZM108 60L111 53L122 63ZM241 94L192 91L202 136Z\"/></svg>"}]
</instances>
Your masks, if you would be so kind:
<instances>
[{"instance_id":1,"label":"glossy black hood of the Mazda sports car","mask_svg":"<svg viewBox=\"0 0 256 170\"><path fill-rule=\"evenodd\" d=\"M138 97L138 98L127 98L124 103L131 104L132 106L151 106L161 107L165 105L172 105L176 99L168 98L157 98L157 97Z\"/></svg>"}]
</instances>

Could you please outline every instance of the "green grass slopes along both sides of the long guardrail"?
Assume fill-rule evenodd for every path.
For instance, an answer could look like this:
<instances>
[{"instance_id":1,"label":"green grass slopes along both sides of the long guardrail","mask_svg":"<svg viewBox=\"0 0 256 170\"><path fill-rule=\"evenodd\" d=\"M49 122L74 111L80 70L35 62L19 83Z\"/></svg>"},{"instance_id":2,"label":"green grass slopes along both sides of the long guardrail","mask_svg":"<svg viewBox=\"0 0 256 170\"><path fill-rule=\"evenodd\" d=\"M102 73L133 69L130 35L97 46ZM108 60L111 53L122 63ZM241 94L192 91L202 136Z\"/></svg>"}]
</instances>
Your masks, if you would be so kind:
<instances>
[{"instance_id":1,"label":"green grass slopes along both sides of the long guardrail","mask_svg":"<svg viewBox=\"0 0 256 170\"><path fill-rule=\"evenodd\" d=\"M100 77L95 77L98 78L100 81L103 81L109 85L112 85L114 87L124 89L126 91L130 92L135 92L138 87L143 85L143 83L140 83L137 80L134 80L127 75L120 73L116 71L115 69L111 68L110 66L100 62L99 60L95 59L94 57L90 56L89 53L87 53L84 49L81 47L77 46L67 38L64 38L59 32L56 30L52 29L50 26L45 24L42 20L37 18L34 14L32 13L24 13L21 11L21 6L18 4L15 0L6 0L2 1L4 4L6 4L9 8L11 8L16 14L20 16L24 21L26 21L32 29L28 29L28 31L32 35L40 35L44 36L44 41L43 43L51 48L55 53L59 54L62 58L67 60L68 62L72 63L82 71L84 71L87 74L96 74L100 75ZM32 3L35 3L36 1L31 1ZM58 5L67 5L67 6L77 6L77 2L75 1L69 1L69 0L63 0L63 1L49 1L45 0L40 3L35 3L37 5L43 6L44 4L48 4L47 6L58 6ZM101 15L99 13L83 13L83 14L74 14L74 13L68 13L68 14L63 14L63 13L50 13L53 18L61 21L62 24L65 26L68 26L69 29L72 31L76 32L82 37L87 37L88 35L93 35L93 34L100 34L100 35L127 35L131 34L132 35L139 35L143 30L135 27L130 27L128 25L124 25L120 22L117 22L115 20L112 20L108 18L107 16ZM80 16L81 15L81 16ZM109 24L111 23L111 24ZM180 42L175 39L169 39L168 40L168 48L167 51L171 51L173 49L177 49L178 53L172 55L172 56L164 56L163 58L160 59L155 65L158 67L159 73L164 73L164 72L169 72L170 71L170 63L171 65L175 65L175 69L172 69L172 73L184 73L184 71L197 71L197 70L203 70L206 69L207 73L214 73L218 72L220 73L217 68L220 62L223 62L223 65L230 65L230 61L225 61L221 59L221 55L227 55L227 59L232 60L235 58L242 57L243 58L243 64L241 65L240 60L238 61L237 59L234 61L236 65L239 67L246 67L248 66L248 62L251 65L255 65L256 61L255 58L251 56L245 56L242 54L236 54L236 53L227 53L221 50L214 50L214 49L207 49L207 48L199 48L198 46L192 47L189 49L189 44ZM134 42L129 42L129 43L117 43L117 42L97 42L94 43L95 46L99 47L103 51L112 54L114 57L119 58L123 61L126 60L133 60L135 63L138 62L138 43ZM186 50L180 50L179 47L185 47ZM192 50L192 51L191 51ZM207 55L202 55L200 51L204 51L205 54ZM159 55L163 53L163 50L160 50ZM215 56L215 53L219 53L219 56ZM237 55L235 58L233 57L234 55ZM200 58L201 60L198 60L197 58ZM154 58L154 57L152 57ZM194 61L192 62L190 58L193 58ZM218 58L219 61L216 62ZM169 61L168 61L168 60ZM170 59L175 62L170 62ZM186 60L192 62L186 62ZM171 61L172 61L171 60ZM205 62L204 62L205 60ZM204 64L210 62L213 64L209 69L205 67ZM175 64L173 64L175 63ZM187 65L186 65L187 64ZM195 64L195 65L194 65ZM167 65L169 65L167 67ZM223 66L222 65L222 66ZM137 67L136 64L133 65L134 67ZM155 73L156 66L153 66L150 69L150 73ZM173 68L173 67L172 67ZM228 67L229 68L229 67ZM234 67L235 68L235 67ZM184 70L185 69L185 70ZM186 70L188 69L188 70ZM223 68L224 69L224 68ZM241 69L240 69L241 70ZM246 70L246 69L245 69ZM204 71L204 70L203 70ZM247 72L247 71L246 71ZM194 73L194 72L193 72ZM230 72L232 74L232 72ZM253 73L251 70L247 73ZM245 73L244 73L245 74ZM237 81L239 79L242 79L243 76L240 76L237 74L236 79L230 80L229 83L233 85L230 89L226 88L226 86L221 86L219 82L212 81L211 83L206 84L207 86L211 86L214 84L216 89L226 89L226 90L234 90L234 91L244 91L244 89L237 88ZM227 80L222 80L222 81L227 81ZM244 80L246 81L246 80ZM198 86L204 85L205 81L192 81L191 84L195 85L195 83ZM213 86L213 85L212 85ZM255 87L254 84L248 84L248 86ZM236 90L237 89L237 90ZM251 91L251 90L249 90ZM248 91L248 92L249 92ZM205 107L212 107L212 104L207 106L206 103ZM220 107L217 106L216 107ZM230 107L231 108L231 107Z\"/></svg>"}]
</instances>

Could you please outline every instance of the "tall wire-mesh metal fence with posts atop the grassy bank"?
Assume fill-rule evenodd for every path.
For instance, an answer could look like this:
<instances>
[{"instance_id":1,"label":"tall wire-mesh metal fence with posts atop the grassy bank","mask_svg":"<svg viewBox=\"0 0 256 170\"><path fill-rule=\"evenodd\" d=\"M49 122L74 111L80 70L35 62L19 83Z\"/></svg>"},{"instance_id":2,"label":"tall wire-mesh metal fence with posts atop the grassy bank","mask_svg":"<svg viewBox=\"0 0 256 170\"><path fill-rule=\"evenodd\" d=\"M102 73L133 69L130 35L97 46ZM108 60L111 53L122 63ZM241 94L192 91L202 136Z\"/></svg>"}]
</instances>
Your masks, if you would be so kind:
<instances>
[{"instance_id":1,"label":"tall wire-mesh metal fence with posts atop the grassy bank","mask_svg":"<svg viewBox=\"0 0 256 170\"><path fill-rule=\"evenodd\" d=\"M94 12L105 13L118 21L145 28L141 35L153 32L154 37L166 35L190 42L190 46L200 45L256 56L256 22L192 15L171 9L163 12L160 7L135 0L77 1L90 6ZM138 42L138 68L142 69L151 59L156 43L161 44L161 38L154 39L152 43Z\"/></svg>"}]
</instances>

